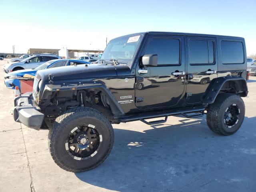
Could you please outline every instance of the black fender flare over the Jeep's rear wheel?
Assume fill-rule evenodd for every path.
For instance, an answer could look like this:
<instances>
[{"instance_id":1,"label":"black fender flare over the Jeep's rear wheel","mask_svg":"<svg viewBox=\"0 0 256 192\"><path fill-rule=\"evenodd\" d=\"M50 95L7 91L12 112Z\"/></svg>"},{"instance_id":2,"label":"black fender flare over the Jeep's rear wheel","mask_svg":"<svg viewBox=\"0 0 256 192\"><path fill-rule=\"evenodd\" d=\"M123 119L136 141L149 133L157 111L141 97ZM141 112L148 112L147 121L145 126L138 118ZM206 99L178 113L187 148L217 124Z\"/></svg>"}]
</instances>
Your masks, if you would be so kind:
<instances>
[{"instance_id":1,"label":"black fender flare over the Jeep's rear wheel","mask_svg":"<svg viewBox=\"0 0 256 192\"><path fill-rule=\"evenodd\" d=\"M224 87L229 83L234 83L236 94L239 94L242 97L247 96L248 87L244 78L238 76L218 77L210 82L208 88L202 96L202 102L204 104L214 103L219 92L223 90Z\"/></svg>"}]
</instances>

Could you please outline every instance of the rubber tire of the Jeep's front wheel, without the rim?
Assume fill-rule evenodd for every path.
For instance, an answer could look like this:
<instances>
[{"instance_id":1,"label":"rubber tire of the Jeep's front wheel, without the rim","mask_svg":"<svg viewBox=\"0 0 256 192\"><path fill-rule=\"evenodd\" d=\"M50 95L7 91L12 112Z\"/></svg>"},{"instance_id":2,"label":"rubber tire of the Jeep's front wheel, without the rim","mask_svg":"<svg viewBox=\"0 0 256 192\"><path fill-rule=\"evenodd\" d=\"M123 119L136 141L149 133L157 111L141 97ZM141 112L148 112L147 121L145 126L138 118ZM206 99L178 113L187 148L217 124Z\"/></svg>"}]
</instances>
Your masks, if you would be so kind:
<instances>
[{"instance_id":1,"label":"rubber tire of the Jeep's front wheel, without the rim","mask_svg":"<svg viewBox=\"0 0 256 192\"><path fill-rule=\"evenodd\" d=\"M85 122L94 125L101 132L102 143L94 156L86 160L76 160L68 154L65 140L72 129ZM50 154L56 164L66 171L82 172L97 167L107 158L114 143L114 130L110 121L98 110L78 107L56 118L48 138Z\"/></svg>"}]
</instances>

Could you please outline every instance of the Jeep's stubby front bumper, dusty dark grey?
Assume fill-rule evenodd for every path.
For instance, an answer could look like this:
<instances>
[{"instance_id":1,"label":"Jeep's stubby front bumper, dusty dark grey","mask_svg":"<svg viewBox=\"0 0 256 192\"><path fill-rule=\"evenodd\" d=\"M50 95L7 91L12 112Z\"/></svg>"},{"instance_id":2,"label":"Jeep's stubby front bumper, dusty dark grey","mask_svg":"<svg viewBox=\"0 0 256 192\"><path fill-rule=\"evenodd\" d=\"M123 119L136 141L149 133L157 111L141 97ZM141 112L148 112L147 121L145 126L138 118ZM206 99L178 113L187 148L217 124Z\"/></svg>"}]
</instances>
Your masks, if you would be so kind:
<instances>
[{"instance_id":1,"label":"Jeep's stubby front bumper, dusty dark grey","mask_svg":"<svg viewBox=\"0 0 256 192\"><path fill-rule=\"evenodd\" d=\"M29 128L39 129L44 120L44 114L33 103L32 92L22 94L14 98L14 108L12 110L14 121L20 122Z\"/></svg>"}]
</instances>

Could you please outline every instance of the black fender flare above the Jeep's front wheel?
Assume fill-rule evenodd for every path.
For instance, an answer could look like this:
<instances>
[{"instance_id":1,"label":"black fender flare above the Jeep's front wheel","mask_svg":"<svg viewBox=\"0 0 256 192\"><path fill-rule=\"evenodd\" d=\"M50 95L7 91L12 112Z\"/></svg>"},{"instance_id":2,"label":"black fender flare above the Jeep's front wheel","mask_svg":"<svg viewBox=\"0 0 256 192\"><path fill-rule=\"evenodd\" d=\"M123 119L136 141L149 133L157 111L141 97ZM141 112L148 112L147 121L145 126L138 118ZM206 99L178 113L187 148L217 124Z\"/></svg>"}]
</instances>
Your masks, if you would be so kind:
<instances>
[{"instance_id":1,"label":"black fender flare above the Jeep's front wheel","mask_svg":"<svg viewBox=\"0 0 256 192\"><path fill-rule=\"evenodd\" d=\"M48 96L52 95L52 92L90 89L100 90L106 95L113 115L124 114L124 111L122 110L120 104L116 101L110 90L104 84L101 84L99 82L86 82L84 84L67 84L65 86L60 84L46 84L42 94L42 99L47 99Z\"/></svg>"}]
</instances>

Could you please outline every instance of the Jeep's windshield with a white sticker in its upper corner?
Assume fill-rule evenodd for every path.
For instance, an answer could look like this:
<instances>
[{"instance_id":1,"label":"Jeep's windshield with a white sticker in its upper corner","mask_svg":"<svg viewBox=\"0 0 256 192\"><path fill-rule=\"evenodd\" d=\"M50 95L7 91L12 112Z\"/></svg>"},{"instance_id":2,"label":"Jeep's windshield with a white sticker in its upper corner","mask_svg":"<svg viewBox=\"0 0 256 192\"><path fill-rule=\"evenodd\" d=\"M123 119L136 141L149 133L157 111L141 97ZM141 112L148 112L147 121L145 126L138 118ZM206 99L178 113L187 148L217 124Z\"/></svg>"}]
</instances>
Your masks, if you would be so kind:
<instances>
[{"instance_id":1,"label":"Jeep's windshield with a white sticker in its upper corner","mask_svg":"<svg viewBox=\"0 0 256 192\"><path fill-rule=\"evenodd\" d=\"M108 43L100 59L105 61L115 59L120 62L131 62L141 40L142 35L113 39Z\"/></svg>"}]
</instances>

